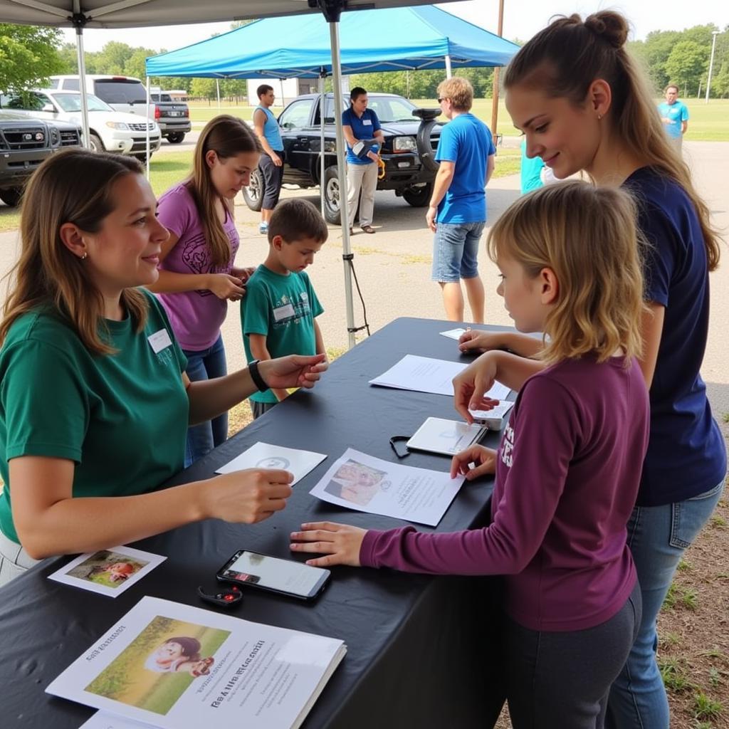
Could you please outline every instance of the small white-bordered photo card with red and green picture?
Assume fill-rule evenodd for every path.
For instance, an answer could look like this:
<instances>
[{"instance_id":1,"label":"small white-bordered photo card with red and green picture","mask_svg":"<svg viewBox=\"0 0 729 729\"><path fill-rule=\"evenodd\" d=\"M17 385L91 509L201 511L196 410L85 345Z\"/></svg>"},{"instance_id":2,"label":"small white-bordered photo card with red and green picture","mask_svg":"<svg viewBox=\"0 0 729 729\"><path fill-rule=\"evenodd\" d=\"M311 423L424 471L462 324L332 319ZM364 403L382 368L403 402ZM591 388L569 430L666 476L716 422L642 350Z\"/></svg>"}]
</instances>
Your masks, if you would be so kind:
<instances>
[{"instance_id":1,"label":"small white-bordered photo card with red and green picture","mask_svg":"<svg viewBox=\"0 0 729 729\"><path fill-rule=\"evenodd\" d=\"M167 559L133 547L112 547L79 555L48 575L49 580L117 597Z\"/></svg>"}]
</instances>

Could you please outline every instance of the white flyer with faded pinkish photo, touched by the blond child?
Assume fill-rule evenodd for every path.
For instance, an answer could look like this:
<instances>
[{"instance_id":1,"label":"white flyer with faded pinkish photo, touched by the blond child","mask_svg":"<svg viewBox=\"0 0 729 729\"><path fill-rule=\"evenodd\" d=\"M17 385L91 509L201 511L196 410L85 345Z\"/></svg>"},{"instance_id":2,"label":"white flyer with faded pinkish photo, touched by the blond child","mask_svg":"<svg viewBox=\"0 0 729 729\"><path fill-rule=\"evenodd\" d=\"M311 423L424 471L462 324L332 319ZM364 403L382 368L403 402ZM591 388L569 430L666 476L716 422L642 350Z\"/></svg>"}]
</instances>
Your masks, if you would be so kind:
<instances>
[{"instance_id":1,"label":"white flyer with faded pinkish photo, touched by the blond child","mask_svg":"<svg viewBox=\"0 0 729 729\"><path fill-rule=\"evenodd\" d=\"M330 504L436 526L463 476L383 461L348 448L309 492Z\"/></svg>"}]
</instances>

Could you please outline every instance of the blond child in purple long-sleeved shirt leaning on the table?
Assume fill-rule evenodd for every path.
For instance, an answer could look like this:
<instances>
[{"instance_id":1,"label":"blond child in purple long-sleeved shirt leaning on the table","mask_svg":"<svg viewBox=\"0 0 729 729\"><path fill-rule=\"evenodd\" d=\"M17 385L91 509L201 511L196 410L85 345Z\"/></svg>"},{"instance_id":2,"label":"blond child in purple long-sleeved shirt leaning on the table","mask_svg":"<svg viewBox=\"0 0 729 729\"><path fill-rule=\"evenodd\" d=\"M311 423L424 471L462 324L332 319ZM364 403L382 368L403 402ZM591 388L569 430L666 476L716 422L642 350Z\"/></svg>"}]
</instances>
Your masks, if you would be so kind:
<instances>
[{"instance_id":1,"label":"blond child in purple long-sleeved shirt leaning on the table","mask_svg":"<svg viewBox=\"0 0 729 729\"><path fill-rule=\"evenodd\" d=\"M519 391L499 450L477 445L451 464L452 477L496 473L491 524L429 534L308 523L291 548L323 552L316 566L503 574L515 729L600 729L641 614L625 542L648 442L635 209L621 190L550 185L504 212L488 254L515 327L549 337L539 363L490 351L453 381L471 422L469 409L493 405L483 393L496 379Z\"/></svg>"}]
</instances>

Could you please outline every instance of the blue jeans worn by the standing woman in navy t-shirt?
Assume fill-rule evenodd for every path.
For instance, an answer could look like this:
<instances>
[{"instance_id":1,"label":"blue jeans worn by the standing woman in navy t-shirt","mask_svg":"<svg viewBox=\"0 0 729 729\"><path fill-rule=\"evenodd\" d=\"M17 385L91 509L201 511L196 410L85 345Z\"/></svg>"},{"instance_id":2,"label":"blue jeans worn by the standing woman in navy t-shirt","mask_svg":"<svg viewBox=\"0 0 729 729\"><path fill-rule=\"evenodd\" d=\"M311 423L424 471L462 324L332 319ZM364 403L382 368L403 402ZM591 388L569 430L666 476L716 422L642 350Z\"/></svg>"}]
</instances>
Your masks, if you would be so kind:
<instances>
[{"instance_id":1,"label":"blue jeans worn by the standing woman in navy t-shirt","mask_svg":"<svg viewBox=\"0 0 729 729\"><path fill-rule=\"evenodd\" d=\"M724 481L704 494L665 506L636 506L628 521L628 545L643 596L640 630L628 661L610 688L606 726L668 729L668 699L655 652L655 621L687 547L709 521Z\"/></svg>"}]
</instances>

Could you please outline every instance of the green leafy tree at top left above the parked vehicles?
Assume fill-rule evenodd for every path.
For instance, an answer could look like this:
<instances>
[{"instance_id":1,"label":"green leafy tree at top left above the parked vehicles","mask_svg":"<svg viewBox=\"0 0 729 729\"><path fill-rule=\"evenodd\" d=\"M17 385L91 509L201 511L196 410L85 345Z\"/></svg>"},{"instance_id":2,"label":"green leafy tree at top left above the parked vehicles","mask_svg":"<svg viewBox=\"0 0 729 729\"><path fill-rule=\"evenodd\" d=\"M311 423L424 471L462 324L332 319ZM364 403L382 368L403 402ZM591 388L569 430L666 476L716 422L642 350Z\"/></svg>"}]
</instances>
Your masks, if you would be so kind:
<instances>
[{"instance_id":1,"label":"green leafy tree at top left above the parked vehicles","mask_svg":"<svg viewBox=\"0 0 729 729\"><path fill-rule=\"evenodd\" d=\"M61 31L0 23L0 89L42 87L63 68L56 48Z\"/></svg>"}]
</instances>

